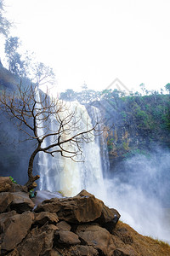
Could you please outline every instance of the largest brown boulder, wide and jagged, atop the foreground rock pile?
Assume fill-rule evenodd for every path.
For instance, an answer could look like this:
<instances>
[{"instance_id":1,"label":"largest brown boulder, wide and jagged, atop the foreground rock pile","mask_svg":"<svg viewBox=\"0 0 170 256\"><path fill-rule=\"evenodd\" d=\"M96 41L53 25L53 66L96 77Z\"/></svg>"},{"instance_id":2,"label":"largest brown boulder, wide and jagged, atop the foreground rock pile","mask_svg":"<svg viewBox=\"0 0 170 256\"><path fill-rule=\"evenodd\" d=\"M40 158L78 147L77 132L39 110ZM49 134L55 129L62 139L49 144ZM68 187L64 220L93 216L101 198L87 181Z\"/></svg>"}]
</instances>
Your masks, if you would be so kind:
<instances>
[{"instance_id":1,"label":"largest brown boulder, wide and jagged, atop the foreground rock pile","mask_svg":"<svg viewBox=\"0 0 170 256\"><path fill-rule=\"evenodd\" d=\"M53 198L43 201L35 212L56 212L59 220L71 224L82 224L97 221L108 230L112 230L120 218L118 212L106 207L103 201L96 199L86 190L74 197Z\"/></svg>"}]
</instances>

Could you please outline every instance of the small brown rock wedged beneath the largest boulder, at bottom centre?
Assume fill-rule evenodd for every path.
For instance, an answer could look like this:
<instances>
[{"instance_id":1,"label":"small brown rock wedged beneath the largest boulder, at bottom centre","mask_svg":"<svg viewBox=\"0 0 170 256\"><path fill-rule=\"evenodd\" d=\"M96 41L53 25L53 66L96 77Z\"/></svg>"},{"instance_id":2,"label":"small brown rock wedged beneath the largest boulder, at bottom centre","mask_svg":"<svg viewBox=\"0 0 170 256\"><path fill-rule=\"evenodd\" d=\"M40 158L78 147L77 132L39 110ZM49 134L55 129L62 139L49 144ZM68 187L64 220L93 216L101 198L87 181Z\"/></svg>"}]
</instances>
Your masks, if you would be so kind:
<instances>
[{"instance_id":1,"label":"small brown rock wedged beneath the largest boulder, at bottom centre","mask_svg":"<svg viewBox=\"0 0 170 256\"><path fill-rule=\"evenodd\" d=\"M60 230L55 232L54 245L56 246L71 247L80 243L77 234L71 231Z\"/></svg>"}]
</instances>

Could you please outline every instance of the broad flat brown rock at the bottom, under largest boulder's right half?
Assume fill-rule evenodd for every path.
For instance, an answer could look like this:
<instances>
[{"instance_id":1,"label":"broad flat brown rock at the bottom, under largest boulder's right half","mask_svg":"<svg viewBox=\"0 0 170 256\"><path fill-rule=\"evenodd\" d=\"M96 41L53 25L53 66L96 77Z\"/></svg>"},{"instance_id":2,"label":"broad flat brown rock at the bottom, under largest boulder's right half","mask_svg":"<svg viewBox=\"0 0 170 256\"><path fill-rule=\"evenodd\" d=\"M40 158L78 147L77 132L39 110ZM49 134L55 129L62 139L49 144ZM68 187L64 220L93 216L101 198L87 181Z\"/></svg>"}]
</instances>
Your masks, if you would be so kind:
<instances>
[{"instance_id":1,"label":"broad flat brown rock at the bottom, under largest boulder's right half","mask_svg":"<svg viewBox=\"0 0 170 256\"><path fill-rule=\"evenodd\" d=\"M110 253L113 253L114 249L116 249L111 239L110 232L101 228L99 224L79 225L76 233L85 244L93 246L99 252L104 253L104 255L110 255Z\"/></svg>"}]
</instances>

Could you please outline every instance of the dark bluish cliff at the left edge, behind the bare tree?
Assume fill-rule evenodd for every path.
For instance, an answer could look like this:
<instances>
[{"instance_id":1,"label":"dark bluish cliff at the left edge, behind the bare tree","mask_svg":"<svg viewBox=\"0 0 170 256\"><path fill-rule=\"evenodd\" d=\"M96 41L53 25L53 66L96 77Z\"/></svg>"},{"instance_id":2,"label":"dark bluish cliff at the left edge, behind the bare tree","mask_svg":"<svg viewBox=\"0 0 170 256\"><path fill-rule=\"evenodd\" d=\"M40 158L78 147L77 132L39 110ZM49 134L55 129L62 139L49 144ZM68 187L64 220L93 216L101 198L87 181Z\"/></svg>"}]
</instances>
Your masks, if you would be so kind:
<instances>
[{"instance_id":1,"label":"dark bluish cliff at the left edge, behind the bare tree","mask_svg":"<svg viewBox=\"0 0 170 256\"><path fill-rule=\"evenodd\" d=\"M27 86L31 80L20 78L0 66L0 94L3 90L13 94L18 84ZM11 119L0 106L0 174L14 177L19 183L27 181L29 156L34 150L34 143L26 140L26 134L16 127L16 120ZM36 169L36 165L35 165Z\"/></svg>"}]
</instances>

